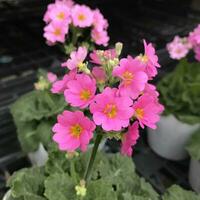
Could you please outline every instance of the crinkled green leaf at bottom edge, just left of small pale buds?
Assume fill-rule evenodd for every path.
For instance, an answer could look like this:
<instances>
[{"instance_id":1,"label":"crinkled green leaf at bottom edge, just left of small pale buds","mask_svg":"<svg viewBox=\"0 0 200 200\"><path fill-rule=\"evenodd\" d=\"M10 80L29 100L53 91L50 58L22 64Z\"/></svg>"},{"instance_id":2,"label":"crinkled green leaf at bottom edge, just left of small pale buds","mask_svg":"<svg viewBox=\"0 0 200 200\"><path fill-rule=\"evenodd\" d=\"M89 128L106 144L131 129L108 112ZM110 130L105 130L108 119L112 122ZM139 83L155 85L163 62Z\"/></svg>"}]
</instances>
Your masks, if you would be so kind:
<instances>
[{"instance_id":1,"label":"crinkled green leaf at bottom edge, just left of small pale buds","mask_svg":"<svg viewBox=\"0 0 200 200\"><path fill-rule=\"evenodd\" d=\"M45 180L48 200L76 200L75 183L66 173L54 173Z\"/></svg>"}]
</instances>

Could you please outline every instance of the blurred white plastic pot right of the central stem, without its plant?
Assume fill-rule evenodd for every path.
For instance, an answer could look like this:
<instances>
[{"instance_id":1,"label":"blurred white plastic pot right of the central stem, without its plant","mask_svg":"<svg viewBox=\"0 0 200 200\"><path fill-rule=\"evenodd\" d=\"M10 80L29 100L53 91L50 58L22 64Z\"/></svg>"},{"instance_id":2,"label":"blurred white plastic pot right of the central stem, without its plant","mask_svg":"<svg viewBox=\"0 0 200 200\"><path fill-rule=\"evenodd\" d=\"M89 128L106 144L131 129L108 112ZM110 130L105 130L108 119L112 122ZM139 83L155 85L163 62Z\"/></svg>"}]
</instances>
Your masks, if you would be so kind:
<instances>
[{"instance_id":1,"label":"blurred white plastic pot right of the central stem, without its plant","mask_svg":"<svg viewBox=\"0 0 200 200\"><path fill-rule=\"evenodd\" d=\"M188 125L173 115L162 116L157 129L148 129L148 142L153 151L169 160L183 160L187 157L185 145L199 124Z\"/></svg>"}]
</instances>

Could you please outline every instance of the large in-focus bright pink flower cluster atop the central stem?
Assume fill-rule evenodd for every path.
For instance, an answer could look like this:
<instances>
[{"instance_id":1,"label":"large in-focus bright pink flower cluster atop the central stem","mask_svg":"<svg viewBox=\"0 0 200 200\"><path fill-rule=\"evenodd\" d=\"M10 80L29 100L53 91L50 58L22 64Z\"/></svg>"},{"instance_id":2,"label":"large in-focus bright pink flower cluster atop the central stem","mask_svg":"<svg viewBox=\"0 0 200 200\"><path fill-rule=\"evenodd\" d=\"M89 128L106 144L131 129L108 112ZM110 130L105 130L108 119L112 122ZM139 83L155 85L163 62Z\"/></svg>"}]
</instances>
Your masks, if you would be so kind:
<instances>
[{"instance_id":1,"label":"large in-focus bright pink flower cluster atop the central stem","mask_svg":"<svg viewBox=\"0 0 200 200\"><path fill-rule=\"evenodd\" d=\"M156 128L164 108L148 81L160 65L153 45L144 41L144 49L143 55L119 59L122 44L117 43L114 49L93 51L90 65L84 47L71 53L62 64L69 72L51 89L64 94L70 105L53 127L53 140L60 150L85 151L94 133L120 135L121 153L131 156L139 126Z\"/></svg>"}]
</instances>

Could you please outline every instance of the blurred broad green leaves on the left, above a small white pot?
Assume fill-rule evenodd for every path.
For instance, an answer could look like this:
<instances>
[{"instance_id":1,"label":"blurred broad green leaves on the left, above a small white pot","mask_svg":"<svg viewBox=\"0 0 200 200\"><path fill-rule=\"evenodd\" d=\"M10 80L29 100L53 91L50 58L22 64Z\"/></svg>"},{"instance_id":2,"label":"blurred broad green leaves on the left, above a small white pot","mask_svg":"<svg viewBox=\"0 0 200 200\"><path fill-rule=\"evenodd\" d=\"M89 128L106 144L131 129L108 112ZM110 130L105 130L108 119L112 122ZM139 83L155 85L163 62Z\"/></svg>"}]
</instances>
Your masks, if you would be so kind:
<instances>
[{"instance_id":1,"label":"blurred broad green leaves on the left, above a small white pot","mask_svg":"<svg viewBox=\"0 0 200 200\"><path fill-rule=\"evenodd\" d=\"M31 91L11 106L18 138L25 152L37 150L39 143L48 148L51 128L57 114L65 107L63 95L51 94L48 90Z\"/></svg>"}]
</instances>

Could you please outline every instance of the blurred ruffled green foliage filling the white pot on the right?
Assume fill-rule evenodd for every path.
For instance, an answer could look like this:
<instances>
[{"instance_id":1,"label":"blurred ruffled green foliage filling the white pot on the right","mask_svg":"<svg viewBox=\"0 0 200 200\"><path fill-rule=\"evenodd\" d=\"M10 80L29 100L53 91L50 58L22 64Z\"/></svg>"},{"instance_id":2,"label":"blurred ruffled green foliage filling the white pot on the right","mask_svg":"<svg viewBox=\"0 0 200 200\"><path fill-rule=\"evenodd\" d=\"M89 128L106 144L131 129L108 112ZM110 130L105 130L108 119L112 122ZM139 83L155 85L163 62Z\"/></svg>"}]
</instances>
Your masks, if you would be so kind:
<instances>
[{"instance_id":1,"label":"blurred ruffled green foliage filling the white pot on the right","mask_svg":"<svg viewBox=\"0 0 200 200\"><path fill-rule=\"evenodd\" d=\"M189 124L200 123L200 63L180 61L159 82L158 90L165 114L173 114Z\"/></svg>"}]
</instances>

